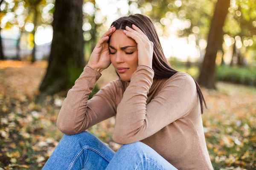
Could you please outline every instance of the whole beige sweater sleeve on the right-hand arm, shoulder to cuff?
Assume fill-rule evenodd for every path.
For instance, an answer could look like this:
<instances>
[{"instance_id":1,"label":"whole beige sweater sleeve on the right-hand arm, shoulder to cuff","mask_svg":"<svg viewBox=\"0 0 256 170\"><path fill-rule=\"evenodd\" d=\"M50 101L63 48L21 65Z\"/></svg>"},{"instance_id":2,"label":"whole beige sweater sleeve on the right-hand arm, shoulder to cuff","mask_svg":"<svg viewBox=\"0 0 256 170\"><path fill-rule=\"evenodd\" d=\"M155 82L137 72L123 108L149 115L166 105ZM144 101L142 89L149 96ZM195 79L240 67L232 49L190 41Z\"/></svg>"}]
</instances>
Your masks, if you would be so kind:
<instances>
[{"instance_id":1,"label":"whole beige sweater sleeve on the right-hand arm, shoulder to cuff","mask_svg":"<svg viewBox=\"0 0 256 170\"><path fill-rule=\"evenodd\" d=\"M117 107L113 141L129 144L143 140L166 125L186 116L191 111L197 91L194 79L178 72L168 79L163 88L146 105L154 71L139 65Z\"/></svg>"}]
</instances>

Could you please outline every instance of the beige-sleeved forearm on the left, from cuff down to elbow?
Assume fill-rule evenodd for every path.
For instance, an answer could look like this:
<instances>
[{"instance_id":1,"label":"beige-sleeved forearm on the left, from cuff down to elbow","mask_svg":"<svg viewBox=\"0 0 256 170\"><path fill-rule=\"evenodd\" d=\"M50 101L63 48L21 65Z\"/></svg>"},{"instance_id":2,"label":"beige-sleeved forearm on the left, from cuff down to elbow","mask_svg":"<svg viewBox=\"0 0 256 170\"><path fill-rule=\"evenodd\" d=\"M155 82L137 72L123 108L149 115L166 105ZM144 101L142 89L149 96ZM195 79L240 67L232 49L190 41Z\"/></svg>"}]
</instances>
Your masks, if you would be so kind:
<instances>
[{"instance_id":1,"label":"beige-sleeved forearm on the left, from cuff down to elbow","mask_svg":"<svg viewBox=\"0 0 256 170\"><path fill-rule=\"evenodd\" d=\"M87 102L96 81L102 74L86 65L75 85L68 91L58 114L58 129L65 134L76 134L76 127L85 129ZM83 127L81 127L83 126Z\"/></svg>"}]
</instances>

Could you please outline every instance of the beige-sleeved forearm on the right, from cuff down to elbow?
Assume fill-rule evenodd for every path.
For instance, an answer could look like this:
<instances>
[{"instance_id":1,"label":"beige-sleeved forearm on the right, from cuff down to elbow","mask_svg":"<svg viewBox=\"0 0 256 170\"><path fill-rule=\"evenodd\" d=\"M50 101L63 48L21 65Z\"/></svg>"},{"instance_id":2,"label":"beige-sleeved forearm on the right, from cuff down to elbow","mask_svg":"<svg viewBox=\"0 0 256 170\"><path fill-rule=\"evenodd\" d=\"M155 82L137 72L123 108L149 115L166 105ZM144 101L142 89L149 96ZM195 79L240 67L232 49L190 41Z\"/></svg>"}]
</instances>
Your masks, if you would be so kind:
<instances>
[{"instance_id":1,"label":"beige-sleeved forearm on the right, from cuff down to elbow","mask_svg":"<svg viewBox=\"0 0 256 170\"><path fill-rule=\"evenodd\" d=\"M153 82L154 71L145 66L138 66L133 76L117 107L113 132L116 142L134 140L132 138L136 138L145 124L147 94Z\"/></svg>"}]
</instances>

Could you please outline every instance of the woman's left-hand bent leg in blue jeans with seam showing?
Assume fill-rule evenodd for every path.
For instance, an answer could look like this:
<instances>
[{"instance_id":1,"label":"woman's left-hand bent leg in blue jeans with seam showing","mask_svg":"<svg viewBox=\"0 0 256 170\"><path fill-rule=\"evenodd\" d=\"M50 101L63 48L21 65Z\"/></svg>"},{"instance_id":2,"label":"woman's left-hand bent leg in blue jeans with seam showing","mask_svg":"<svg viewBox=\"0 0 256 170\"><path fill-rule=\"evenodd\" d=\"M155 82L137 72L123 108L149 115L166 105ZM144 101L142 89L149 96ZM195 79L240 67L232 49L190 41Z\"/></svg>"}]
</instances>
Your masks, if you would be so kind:
<instances>
[{"instance_id":1,"label":"woman's left-hand bent leg in blue jeans with seam showing","mask_svg":"<svg viewBox=\"0 0 256 170\"><path fill-rule=\"evenodd\" d=\"M66 135L42 170L105 170L115 152L93 134Z\"/></svg>"}]
</instances>

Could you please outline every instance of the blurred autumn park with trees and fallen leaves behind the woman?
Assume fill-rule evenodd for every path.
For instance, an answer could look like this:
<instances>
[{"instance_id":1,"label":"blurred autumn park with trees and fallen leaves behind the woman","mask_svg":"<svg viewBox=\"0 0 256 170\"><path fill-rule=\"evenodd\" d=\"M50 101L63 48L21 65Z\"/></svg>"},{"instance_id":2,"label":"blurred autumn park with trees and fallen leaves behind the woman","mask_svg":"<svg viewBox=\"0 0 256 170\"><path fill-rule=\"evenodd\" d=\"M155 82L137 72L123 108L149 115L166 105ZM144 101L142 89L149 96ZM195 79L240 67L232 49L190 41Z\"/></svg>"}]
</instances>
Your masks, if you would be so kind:
<instances>
[{"instance_id":1,"label":"blurred autumn park with trees and fallen leaves behind the woman","mask_svg":"<svg viewBox=\"0 0 256 170\"><path fill-rule=\"evenodd\" d=\"M0 170L42 168L99 37L136 13L154 22L170 65L200 85L214 169L256 169L256 0L0 0ZM90 98L116 78L111 64ZM116 151L114 123L88 131Z\"/></svg>"}]
</instances>

